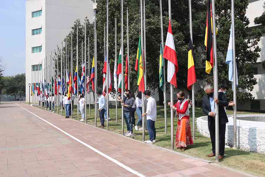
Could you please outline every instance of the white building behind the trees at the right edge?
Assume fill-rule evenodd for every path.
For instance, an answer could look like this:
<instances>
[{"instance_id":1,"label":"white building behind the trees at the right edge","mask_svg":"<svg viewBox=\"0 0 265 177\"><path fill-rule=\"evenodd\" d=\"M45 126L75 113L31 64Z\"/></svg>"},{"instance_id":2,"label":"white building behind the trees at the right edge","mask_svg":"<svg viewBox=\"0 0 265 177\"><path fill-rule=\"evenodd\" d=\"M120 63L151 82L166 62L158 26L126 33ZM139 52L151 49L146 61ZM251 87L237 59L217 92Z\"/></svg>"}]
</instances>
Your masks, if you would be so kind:
<instances>
[{"instance_id":1,"label":"white building behind the trees at the right edge","mask_svg":"<svg viewBox=\"0 0 265 177\"><path fill-rule=\"evenodd\" d=\"M246 10L246 16L249 18L250 28L259 28L260 25L254 24L254 19L260 17L264 12L265 0L249 0L249 6ZM261 67L261 62L265 60L265 34L259 41L259 47L261 48L260 58L257 63L253 65L254 77L257 79L257 84L254 86L251 94L255 97L255 100L241 105L238 103L238 109L241 110L265 110L265 71Z\"/></svg>"}]
</instances>

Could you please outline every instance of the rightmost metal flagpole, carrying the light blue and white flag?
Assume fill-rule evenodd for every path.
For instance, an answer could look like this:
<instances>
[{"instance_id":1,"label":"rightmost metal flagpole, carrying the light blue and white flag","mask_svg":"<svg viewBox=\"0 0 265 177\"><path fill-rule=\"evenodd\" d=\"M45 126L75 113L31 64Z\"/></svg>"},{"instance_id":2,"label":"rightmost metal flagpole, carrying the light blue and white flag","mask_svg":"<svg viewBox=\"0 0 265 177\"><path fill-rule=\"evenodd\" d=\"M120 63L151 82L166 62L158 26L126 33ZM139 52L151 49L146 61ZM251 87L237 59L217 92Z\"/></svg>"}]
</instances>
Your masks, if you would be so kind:
<instances>
[{"instance_id":1,"label":"rightmost metal flagpole, carrying the light blue and white flag","mask_svg":"<svg viewBox=\"0 0 265 177\"><path fill-rule=\"evenodd\" d=\"M233 38L233 101L234 108L234 138L233 138L233 148L237 148L237 127L236 127L236 40L235 40L235 9L234 0L231 0L231 13L232 13L232 38Z\"/></svg>"}]
</instances>

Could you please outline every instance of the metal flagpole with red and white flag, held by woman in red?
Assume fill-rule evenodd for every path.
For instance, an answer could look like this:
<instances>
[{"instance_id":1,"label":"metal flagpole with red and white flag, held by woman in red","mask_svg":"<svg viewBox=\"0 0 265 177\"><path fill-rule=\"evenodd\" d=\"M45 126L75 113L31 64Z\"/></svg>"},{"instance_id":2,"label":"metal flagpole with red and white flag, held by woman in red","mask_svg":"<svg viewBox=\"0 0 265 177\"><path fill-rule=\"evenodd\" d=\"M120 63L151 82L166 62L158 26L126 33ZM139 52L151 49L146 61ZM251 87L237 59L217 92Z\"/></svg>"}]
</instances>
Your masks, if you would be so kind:
<instances>
[{"instance_id":1,"label":"metal flagpole with red and white flag, held by woman in red","mask_svg":"<svg viewBox=\"0 0 265 177\"><path fill-rule=\"evenodd\" d=\"M171 0L168 0L168 16L171 20ZM173 85L170 83L170 102L171 105L174 103L174 88ZM171 134L171 149L174 150L174 113L173 113L173 107L170 108L170 134Z\"/></svg>"}]
</instances>

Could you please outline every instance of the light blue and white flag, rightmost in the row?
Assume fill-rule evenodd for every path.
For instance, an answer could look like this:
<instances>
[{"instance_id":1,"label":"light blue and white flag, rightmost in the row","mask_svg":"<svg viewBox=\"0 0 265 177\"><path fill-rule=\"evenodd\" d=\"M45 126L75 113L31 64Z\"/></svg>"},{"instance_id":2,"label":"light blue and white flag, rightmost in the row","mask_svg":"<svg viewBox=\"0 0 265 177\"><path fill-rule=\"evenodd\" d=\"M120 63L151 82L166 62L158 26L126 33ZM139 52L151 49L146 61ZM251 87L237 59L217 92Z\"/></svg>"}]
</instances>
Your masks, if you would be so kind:
<instances>
[{"instance_id":1,"label":"light blue and white flag, rightmost in the row","mask_svg":"<svg viewBox=\"0 0 265 177\"><path fill-rule=\"evenodd\" d=\"M234 89L233 81L234 81L234 65L233 65L233 33L232 33L232 25L230 31L229 45L226 54L226 64L228 65L228 79L232 82L232 89ZM238 76L237 76L237 66L236 66L236 87L238 86Z\"/></svg>"}]
</instances>

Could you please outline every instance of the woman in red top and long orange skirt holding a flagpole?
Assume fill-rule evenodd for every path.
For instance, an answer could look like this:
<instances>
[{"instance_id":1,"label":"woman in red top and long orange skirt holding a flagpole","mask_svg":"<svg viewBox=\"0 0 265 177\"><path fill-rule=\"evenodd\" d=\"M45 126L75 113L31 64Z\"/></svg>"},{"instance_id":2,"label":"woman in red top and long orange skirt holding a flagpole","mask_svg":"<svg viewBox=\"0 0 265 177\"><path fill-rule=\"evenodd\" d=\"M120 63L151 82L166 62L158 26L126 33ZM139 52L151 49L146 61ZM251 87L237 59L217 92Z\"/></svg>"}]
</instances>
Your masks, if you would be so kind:
<instances>
[{"instance_id":1,"label":"woman in red top and long orange skirt holding a flagpole","mask_svg":"<svg viewBox=\"0 0 265 177\"><path fill-rule=\"evenodd\" d=\"M187 99L185 99L185 92L180 91L178 94L178 101L172 107L176 110L178 114L178 128L176 132L175 146L180 151L184 151L187 145L193 145L192 135L191 135L191 125L190 125L190 104ZM171 105L170 102L168 105Z\"/></svg>"}]
</instances>

